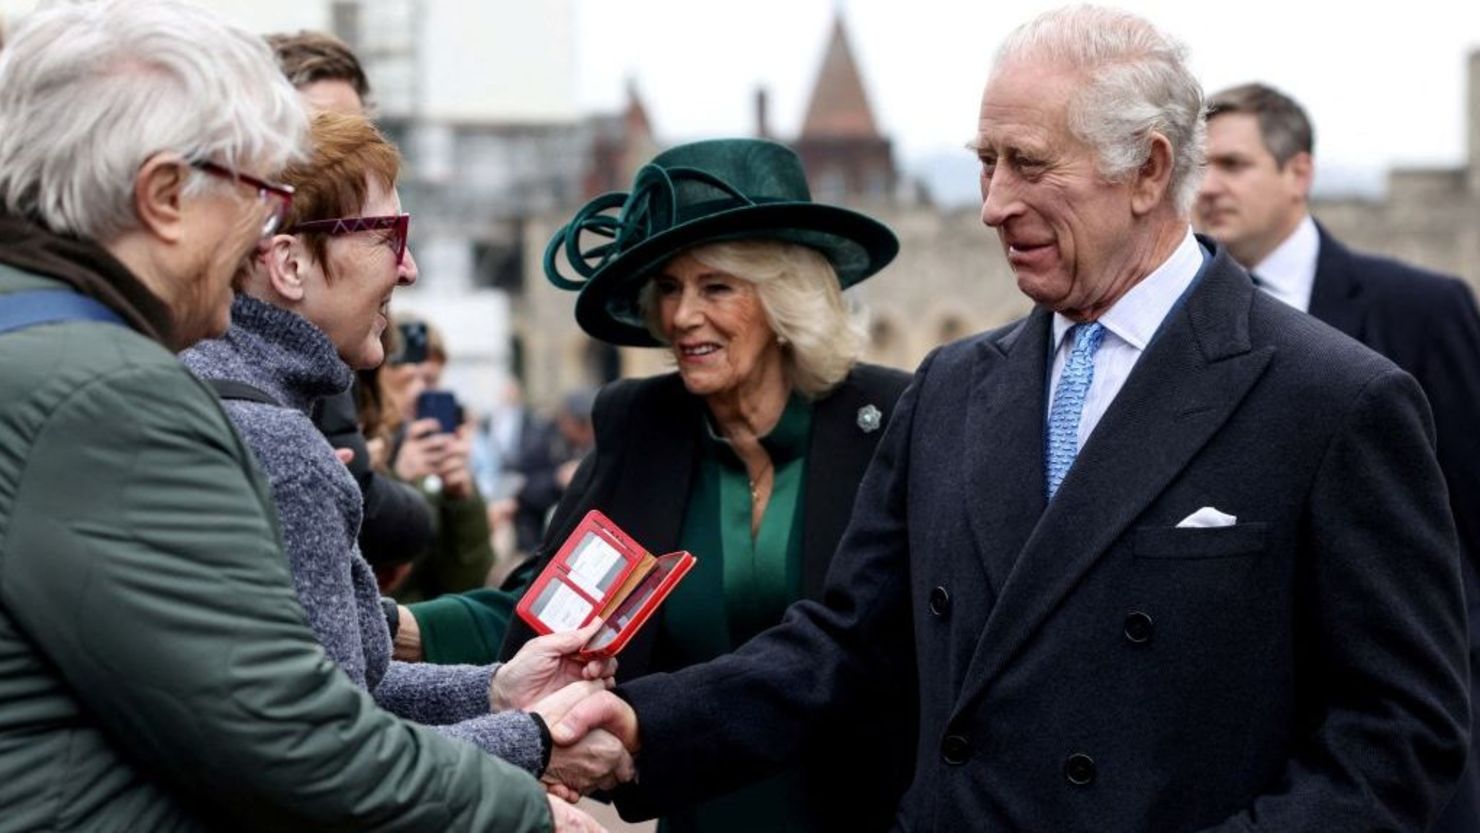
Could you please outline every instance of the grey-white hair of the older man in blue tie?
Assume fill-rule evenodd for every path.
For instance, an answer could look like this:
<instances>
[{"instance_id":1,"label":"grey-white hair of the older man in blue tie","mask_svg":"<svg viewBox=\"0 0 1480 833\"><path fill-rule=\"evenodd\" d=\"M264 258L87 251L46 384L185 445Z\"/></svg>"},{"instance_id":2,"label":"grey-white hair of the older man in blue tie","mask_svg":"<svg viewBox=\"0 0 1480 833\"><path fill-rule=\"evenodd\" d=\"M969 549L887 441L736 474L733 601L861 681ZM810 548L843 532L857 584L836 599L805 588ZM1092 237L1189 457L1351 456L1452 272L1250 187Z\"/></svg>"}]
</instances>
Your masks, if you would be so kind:
<instances>
[{"instance_id":1,"label":"grey-white hair of the older man in blue tie","mask_svg":"<svg viewBox=\"0 0 1480 833\"><path fill-rule=\"evenodd\" d=\"M1048 59L1082 72L1088 84L1069 107L1069 129L1095 148L1100 173L1122 181L1146 164L1151 135L1172 145L1171 194L1185 216L1203 173L1202 84L1187 47L1129 12L1069 6L1018 27L998 50L993 72L1023 59Z\"/></svg>"}]
</instances>

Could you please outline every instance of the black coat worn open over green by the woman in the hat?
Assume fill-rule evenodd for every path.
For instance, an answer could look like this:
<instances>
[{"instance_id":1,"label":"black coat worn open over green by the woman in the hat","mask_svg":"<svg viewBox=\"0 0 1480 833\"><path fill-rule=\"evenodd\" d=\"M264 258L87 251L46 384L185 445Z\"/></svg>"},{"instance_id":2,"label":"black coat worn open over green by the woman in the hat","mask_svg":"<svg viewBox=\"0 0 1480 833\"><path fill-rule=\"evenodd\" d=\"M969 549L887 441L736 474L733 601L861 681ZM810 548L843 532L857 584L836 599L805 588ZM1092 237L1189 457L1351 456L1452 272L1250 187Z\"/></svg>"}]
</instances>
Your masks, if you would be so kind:
<instances>
[{"instance_id":1,"label":"black coat worn open over green by the woman in the hat","mask_svg":"<svg viewBox=\"0 0 1480 833\"><path fill-rule=\"evenodd\" d=\"M815 405L801 515L807 598L821 596L823 579L848 524L863 472L907 383L907 373L860 364ZM870 425L867 419L860 425L860 410L869 405L879 411L872 431L864 429ZM654 552L676 549L699 460L702 408L703 402L684 389L678 374L602 388L592 416L596 450L582 463L551 519L537 555L539 568L543 570L549 555L589 509L601 509ZM623 650L620 681L673 670L656 644L659 630L653 626L641 630ZM528 626L515 618L505 655L512 655L531 636ZM897 689L888 703L901 725L888 735L820 718L826 725L820 734L823 740L810 752L815 762L805 769L810 830L867 833L888 829L912 769L915 734L912 692ZM832 756L839 752L851 766L836 766ZM623 812L641 815L642 809L623 806ZM667 815L675 833L681 832L682 808Z\"/></svg>"}]
</instances>

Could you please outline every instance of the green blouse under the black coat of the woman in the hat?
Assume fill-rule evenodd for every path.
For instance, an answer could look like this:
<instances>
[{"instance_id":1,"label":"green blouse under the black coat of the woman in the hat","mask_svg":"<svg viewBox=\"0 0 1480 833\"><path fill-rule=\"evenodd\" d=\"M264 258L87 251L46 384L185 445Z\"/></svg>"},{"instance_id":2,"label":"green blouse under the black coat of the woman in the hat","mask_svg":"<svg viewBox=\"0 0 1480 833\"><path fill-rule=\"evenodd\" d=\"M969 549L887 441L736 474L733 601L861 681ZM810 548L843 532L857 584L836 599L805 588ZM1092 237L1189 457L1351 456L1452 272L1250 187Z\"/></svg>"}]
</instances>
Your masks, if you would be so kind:
<instances>
[{"instance_id":1,"label":"green blouse under the black coat of the woman in the hat","mask_svg":"<svg viewBox=\"0 0 1480 833\"><path fill-rule=\"evenodd\" d=\"M776 466L771 500L750 536L750 479L740 457L703 420L679 546L697 564L663 602L662 652L669 667L702 663L739 648L778 623L802 595L802 505L813 405L798 397L761 438ZM786 833L804 827L802 780L796 769L697 806L694 826L665 821L662 830L699 833ZM684 814L688 815L688 814Z\"/></svg>"}]
</instances>

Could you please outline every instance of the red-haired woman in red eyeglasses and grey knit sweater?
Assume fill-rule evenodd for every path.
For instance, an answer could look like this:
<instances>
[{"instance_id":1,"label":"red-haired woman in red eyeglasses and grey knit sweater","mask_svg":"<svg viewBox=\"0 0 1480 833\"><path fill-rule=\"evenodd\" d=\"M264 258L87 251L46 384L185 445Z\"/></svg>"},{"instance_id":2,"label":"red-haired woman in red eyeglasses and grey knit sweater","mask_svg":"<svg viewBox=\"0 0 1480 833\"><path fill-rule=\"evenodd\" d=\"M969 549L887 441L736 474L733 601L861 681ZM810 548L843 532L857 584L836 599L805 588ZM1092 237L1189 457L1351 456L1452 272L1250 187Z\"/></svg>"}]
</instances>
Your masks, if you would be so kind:
<instances>
[{"instance_id":1,"label":"red-haired woman in red eyeglasses and grey knit sweater","mask_svg":"<svg viewBox=\"0 0 1480 833\"><path fill-rule=\"evenodd\" d=\"M370 121L320 114L311 138L311 157L283 175L283 226L234 280L231 328L182 358L222 397L271 481L297 598L330 658L403 718L534 775L601 786L582 772L629 771L622 744L608 735L552 750L548 732L567 701L607 685L614 670L562 658L580 635L531 644L502 666L391 661L374 574L357 544L360 490L309 416L349 386L354 370L385 360L391 296L416 281L410 216L395 191L400 155Z\"/></svg>"}]
</instances>

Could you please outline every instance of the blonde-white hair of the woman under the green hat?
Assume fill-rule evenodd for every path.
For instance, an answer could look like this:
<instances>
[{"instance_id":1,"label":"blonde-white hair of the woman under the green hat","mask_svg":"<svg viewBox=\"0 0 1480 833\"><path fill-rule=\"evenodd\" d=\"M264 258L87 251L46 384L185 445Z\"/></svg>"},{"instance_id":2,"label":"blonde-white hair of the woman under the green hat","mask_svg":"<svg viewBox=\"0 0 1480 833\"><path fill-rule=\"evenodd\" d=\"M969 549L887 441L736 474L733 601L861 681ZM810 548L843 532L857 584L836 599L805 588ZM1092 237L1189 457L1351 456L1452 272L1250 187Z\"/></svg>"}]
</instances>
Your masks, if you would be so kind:
<instances>
[{"instance_id":1,"label":"blonde-white hair of the woman under the green hat","mask_svg":"<svg viewBox=\"0 0 1480 833\"><path fill-rule=\"evenodd\" d=\"M818 398L832 391L858 362L867 334L850 312L838 272L821 252L780 240L733 240L685 253L710 269L755 284L765 320L784 348L787 376L804 397ZM648 281L639 302L648 330L662 340L654 293Z\"/></svg>"}]
</instances>

